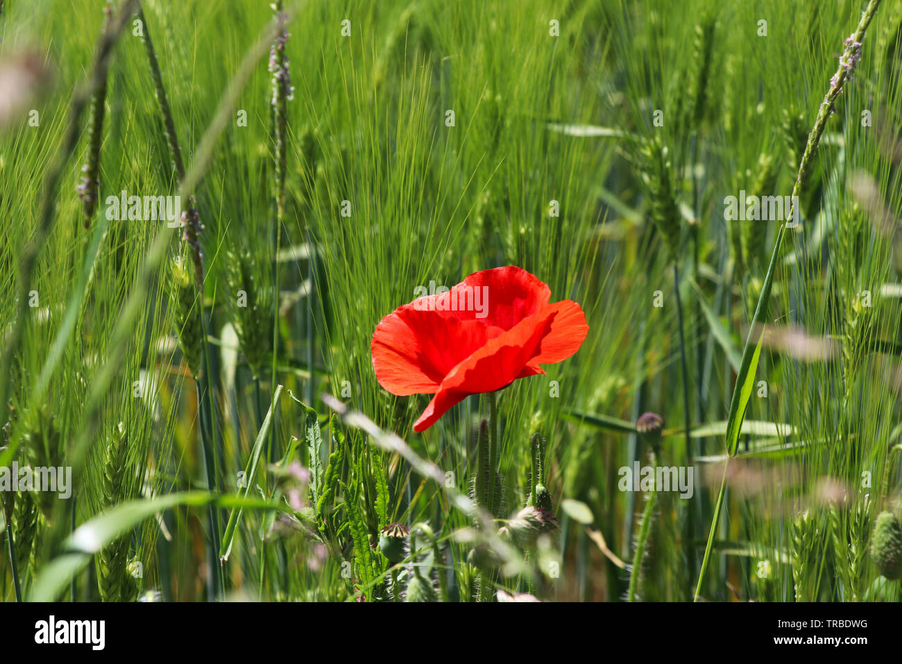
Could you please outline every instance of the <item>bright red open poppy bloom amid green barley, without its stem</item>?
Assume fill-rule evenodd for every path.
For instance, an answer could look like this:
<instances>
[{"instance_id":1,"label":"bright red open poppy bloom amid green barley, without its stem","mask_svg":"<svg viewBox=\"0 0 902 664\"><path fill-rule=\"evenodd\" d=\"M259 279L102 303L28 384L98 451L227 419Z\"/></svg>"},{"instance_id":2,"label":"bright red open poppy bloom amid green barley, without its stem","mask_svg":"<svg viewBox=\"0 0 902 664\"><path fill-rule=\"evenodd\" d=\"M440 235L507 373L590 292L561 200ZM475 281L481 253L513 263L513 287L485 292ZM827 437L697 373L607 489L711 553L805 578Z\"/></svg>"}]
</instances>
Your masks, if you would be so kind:
<instances>
[{"instance_id":1,"label":"bright red open poppy bloom amid green barley, without its stem","mask_svg":"<svg viewBox=\"0 0 902 664\"><path fill-rule=\"evenodd\" d=\"M423 431L471 394L544 374L540 365L566 360L589 332L579 304L550 297L521 267L496 267L403 304L373 332L376 379L399 397L435 395L413 426Z\"/></svg>"}]
</instances>

